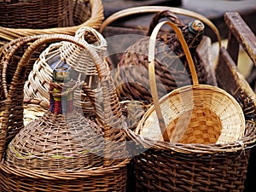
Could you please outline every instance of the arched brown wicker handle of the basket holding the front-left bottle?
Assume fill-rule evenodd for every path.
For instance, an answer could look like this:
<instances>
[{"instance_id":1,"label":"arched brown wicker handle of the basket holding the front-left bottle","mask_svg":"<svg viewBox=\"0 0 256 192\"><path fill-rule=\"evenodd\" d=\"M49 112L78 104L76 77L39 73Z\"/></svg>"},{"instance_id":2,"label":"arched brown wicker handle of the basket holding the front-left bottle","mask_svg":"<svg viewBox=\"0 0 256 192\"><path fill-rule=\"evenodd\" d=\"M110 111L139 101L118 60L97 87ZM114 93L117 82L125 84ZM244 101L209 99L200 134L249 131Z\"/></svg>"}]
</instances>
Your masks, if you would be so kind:
<instances>
[{"instance_id":1,"label":"arched brown wicker handle of the basket holding the front-left bottle","mask_svg":"<svg viewBox=\"0 0 256 192\"><path fill-rule=\"evenodd\" d=\"M111 101L118 103L118 97L116 96L115 92L109 93L108 87L113 87L113 81L109 78L109 77L111 77L111 75L109 74L110 72L109 72L108 68L106 68L105 63L102 61L102 58L99 55L97 55L95 49L91 48L89 46L89 44L81 38L75 38L73 36L64 35L64 34L42 35L40 37L41 38L38 38L36 41L34 41L32 44L30 44L30 46L26 49L24 55L22 55L22 57L18 63L18 67L16 68L15 74L13 76L12 82L10 84L9 93L8 93L8 97L7 97L6 105L5 105L5 110L3 113L3 122L2 122L2 126L1 126L0 160L2 160L2 158L3 158L3 151L4 151L4 146L5 146L6 137L7 137L9 110L11 108L14 93L16 91L16 84L20 83L20 77L25 77L26 68L27 68L27 65L30 61L30 57L31 57L32 53L34 52L34 50L36 50L38 47L42 46L43 44L55 43L58 41L68 41L73 44L77 44L81 48L84 48L88 51L92 60L96 64L96 69L98 72L99 79L101 79L101 81L102 81L102 93L104 96L103 97L103 108L104 108L104 114L106 114L106 117L104 116L103 117L104 119L102 119L102 120L104 120L104 123L105 123L104 124L105 125L104 132L105 132L105 137L107 137L106 139L108 139L108 137L110 137L110 134L111 134L109 131L110 125L108 124L108 120L110 118L112 118L112 117L110 117L109 112L112 111L113 105L110 106L109 101L111 100ZM20 39L22 39L22 38L20 38ZM25 37L25 39L26 39L26 37ZM10 42L10 44L11 44L11 42ZM23 82L23 85L24 84L25 84L25 82ZM94 103L95 98L90 96L90 94L88 94L88 96L90 97L90 101L92 103ZM23 96L21 99L24 99ZM116 108L118 108L119 104L116 104L116 106L117 106ZM119 111L120 111L120 109L119 109ZM97 111L96 111L96 113L97 113ZM121 113L117 113L115 115L115 122L119 122L119 125L121 125L123 128L123 127L125 127L125 125L120 116L121 116ZM108 134L106 134L106 132L108 132Z\"/></svg>"}]
</instances>

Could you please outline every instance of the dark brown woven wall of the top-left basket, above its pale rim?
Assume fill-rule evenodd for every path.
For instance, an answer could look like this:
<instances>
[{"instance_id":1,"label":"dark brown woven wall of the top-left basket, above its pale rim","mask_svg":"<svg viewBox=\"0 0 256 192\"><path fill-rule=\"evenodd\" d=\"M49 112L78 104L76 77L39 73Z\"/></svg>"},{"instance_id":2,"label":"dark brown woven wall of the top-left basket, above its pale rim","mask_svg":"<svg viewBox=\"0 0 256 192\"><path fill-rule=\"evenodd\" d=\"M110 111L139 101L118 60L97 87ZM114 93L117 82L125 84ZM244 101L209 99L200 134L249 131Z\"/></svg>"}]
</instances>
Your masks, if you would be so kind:
<instances>
[{"instance_id":1,"label":"dark brown woven wall of the top-left basket, above its pale rim","mask_svg":"<svg viewBox=\"0 0 256 192\"><path fill-rule=\"evenodd\" d=\"M73 26L70 0L20 0L15 3L0 2L0 5L0 26L38 29Z\"/></svg>"}]
</instances>

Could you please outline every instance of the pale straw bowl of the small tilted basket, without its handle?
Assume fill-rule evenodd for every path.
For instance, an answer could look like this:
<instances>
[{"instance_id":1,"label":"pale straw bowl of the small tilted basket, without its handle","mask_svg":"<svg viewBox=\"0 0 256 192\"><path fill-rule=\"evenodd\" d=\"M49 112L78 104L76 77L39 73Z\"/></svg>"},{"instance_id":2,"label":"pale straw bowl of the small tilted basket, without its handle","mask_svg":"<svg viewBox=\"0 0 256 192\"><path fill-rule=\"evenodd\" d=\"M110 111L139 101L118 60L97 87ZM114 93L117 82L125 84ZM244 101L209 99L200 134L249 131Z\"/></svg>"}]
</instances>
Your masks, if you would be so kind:
<instances>
[{"instance_id":1,"label":"pale straw bowl of the small tilted basket, without its handle","mask_svg":"<svg viewBox=\"0 0 256 192\"><path fill-rule=\"evenodd\" d=\"M244 134L244 115L236 100L207 84L186 86L160 99L172 143L229 143ZM143 137L163 141L154 106L137 125Z\"/></svg>"}]
</instances>

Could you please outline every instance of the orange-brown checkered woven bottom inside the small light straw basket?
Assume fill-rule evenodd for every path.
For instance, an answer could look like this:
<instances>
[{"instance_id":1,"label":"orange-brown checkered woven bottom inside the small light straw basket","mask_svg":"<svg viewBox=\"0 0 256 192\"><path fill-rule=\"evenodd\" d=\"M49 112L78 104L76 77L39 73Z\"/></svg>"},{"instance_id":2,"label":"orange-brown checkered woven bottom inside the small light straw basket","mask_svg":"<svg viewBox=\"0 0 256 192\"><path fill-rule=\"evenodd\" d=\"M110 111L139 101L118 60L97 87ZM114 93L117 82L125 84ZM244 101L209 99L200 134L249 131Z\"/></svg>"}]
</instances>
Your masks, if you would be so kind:
<instances>
[{"instance_id":1,"label":"orange-brown checkered woven bottom inside the small light straw basket","mask_svg":"<svg viewBox=\"0 0 256 192\"><path fill-rule=\"evenodd\" d=\"M218 141L222 124L210 109L194 108L173 119L166 129L171 136L170 142L208 144Z\"/></svg>"}]
</instances>

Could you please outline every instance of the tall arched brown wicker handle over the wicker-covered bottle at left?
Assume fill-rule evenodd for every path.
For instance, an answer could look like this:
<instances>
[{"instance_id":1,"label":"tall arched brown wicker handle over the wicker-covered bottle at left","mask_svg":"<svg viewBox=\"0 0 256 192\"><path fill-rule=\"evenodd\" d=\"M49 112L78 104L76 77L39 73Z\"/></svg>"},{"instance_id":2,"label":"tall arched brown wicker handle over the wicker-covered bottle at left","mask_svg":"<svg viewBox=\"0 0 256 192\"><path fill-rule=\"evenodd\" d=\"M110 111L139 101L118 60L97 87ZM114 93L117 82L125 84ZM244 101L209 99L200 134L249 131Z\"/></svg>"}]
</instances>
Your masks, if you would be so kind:
<instances>
[{"instance_id":1,"label":"tall arched brown wicker handle over the wicker-covered bottle at left","mask_svg":"<svg viewBox=\"0 0 256 192\"><path fill-rule=\"evenodd\" d=\"M20 38L19 41L22 41L24 38ZM26 39L26 38L25 38ZM18 41L18 42L19 42ZM64 34L53 34L53 35L43 35L40 36L36 41L34 41L25 51L24 55L22 55L18 66L15 70L15 74L13 76L12 82L10 84L8 97L5 102L5 108L3 113L3 122L0 132L0 160L3 159L3 152L5 149L5 145L7 142L7 133L8 133L8 127L9 127L9 111L14 104L14 100L18 101L19 103L22 103L23 96L18 96L17 98L14 98L15 92L19 91L19 93L23 92L22 87L24 87L25 79L26 79L26 70L28 68L28 64L30 61L30 57L35 49L42 46L43 44L49 44L49 43L55 43L58 41L68 41L73 44L79 45L81 48L84 48L88 51L90 54L92 60L96 64L96 70L98 72L99 79L101 80L102 84L102 94L103 94L103 103L101 105L103 108L103 117L101 116L102 113L99 114L99 117L102 120L103 125L103 131L104 131L104 137L106 139L106 145L109 146L109 143L111 144L111 141L124 141L124 137L120 136L120 129L117 129L116 127L119 127L123 129L125 127L121 108L119 106L119 99L116 95L114 86L113 86L113 79L110 74L110 70L106 67L105 63L102 61L102 58L97 55L95 49L92 49L89 44L80 38L75 38L73 36L64 35ZM10 42L10 44L12 44ZM15 49L15 46L14 46ZM30 67L31 68L31 67ZM17 84L20 84L21 87L20 90L17 88ZM86 90L85 90L86 91ZM95 98L89 93L88 94L90 101L92 104L95 103ZM113 112L114 113L111 113ZM97 114L97 110L96 110ZM113 134L113 132L115 134ZM113 136L114 135L114 136ZM125 143L124 143L125 145ZM124 146L121 146L121 143L119 143L119 151L121 151L121 148L124 150ZM105 157L107 157L104 161L104 165L110 165L110 158L112 151L109 152L108 148L105 148ZM114 159L114 158L113 158ZM109 162L108 162L109 160ZM112 160L113 161L113 160Z\"/></svg>"}]
</instances>

